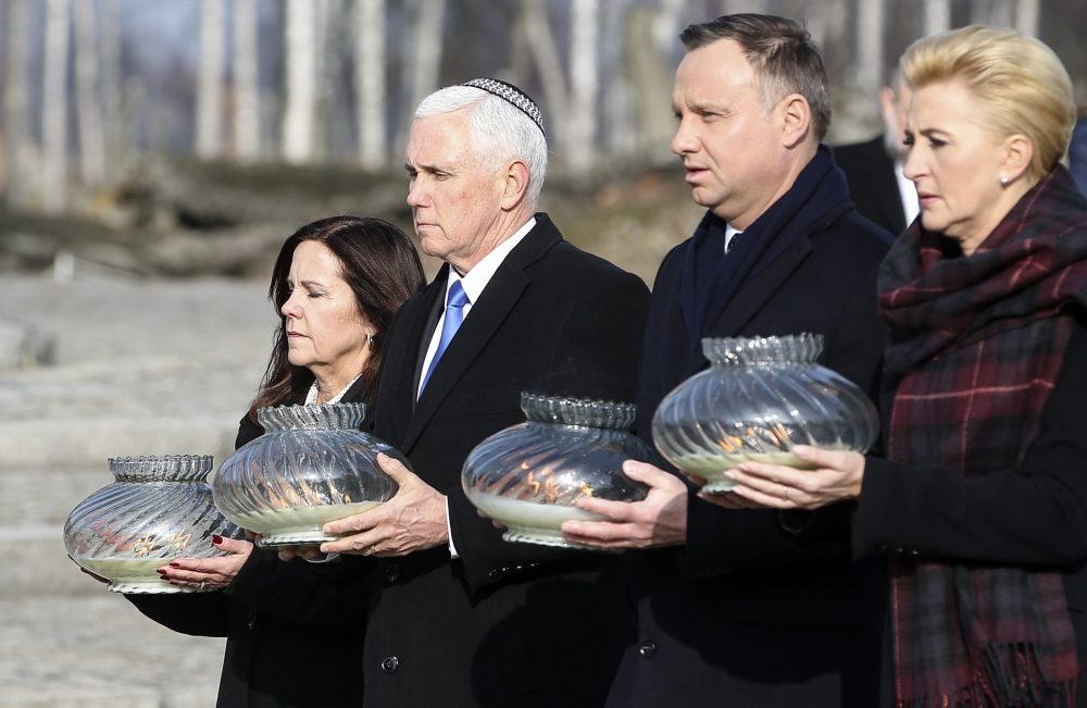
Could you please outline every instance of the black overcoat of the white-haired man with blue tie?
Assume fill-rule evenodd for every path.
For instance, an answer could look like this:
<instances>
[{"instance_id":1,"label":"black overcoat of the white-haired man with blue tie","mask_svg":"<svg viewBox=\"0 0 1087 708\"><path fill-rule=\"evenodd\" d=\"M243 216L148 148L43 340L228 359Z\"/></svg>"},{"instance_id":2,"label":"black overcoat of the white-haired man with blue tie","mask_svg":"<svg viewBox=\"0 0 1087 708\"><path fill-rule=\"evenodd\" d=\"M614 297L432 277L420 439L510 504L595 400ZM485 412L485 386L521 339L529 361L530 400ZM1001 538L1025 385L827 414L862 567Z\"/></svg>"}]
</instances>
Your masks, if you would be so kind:
<instances>
[{"instance_id":1,"label":"black overcoat of the white-haired man with blue tie","mask_svg":"<svg viewBox=\"0 0 1087 708\"><path fill-rule=\"evenodd\" d=\"M366 706L599 706L623 646L616 557L507 543L461 488L483 438L524 421L521 393L634 400L649 293L564 241L544 214L473 303L417 403L448 265L397 314L375 433L449 499L442 545L378 559L360 678Z\"/></svg>"}]
</instances>

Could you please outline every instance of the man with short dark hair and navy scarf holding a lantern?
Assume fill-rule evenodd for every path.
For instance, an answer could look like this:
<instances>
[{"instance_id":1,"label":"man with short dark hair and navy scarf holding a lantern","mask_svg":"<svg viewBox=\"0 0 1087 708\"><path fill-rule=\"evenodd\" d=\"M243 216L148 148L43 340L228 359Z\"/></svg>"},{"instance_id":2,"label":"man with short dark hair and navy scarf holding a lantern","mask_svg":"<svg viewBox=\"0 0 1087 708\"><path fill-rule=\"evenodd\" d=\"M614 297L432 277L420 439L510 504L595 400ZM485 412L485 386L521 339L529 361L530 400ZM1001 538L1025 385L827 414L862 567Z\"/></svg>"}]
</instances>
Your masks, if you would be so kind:
<instances>
[{"instance_id":1,"label":"man with short dark hair and navy scarf holding a lantern","mask_svg":"<svg viewBox=\"0 0 1087 708\"><path fill-rule=\"evenodd\" d=\"M861 216L821 144L830 99L819 49L784 17L691 25L676 70L672 150L694 236L657 275L638 381L638 433L709 362L702 337L823 335L821 363L876 390L884 328L875 276L891 236ZM583 499L607 521L563 532L638 548L636 641L609 706L857 706L877 695L878 568L849 558L849 505L814 513L722 509L674 471L627 461L645 501ZM882 589L882 588L880 588Z\"/></svg>"}]
</instances>

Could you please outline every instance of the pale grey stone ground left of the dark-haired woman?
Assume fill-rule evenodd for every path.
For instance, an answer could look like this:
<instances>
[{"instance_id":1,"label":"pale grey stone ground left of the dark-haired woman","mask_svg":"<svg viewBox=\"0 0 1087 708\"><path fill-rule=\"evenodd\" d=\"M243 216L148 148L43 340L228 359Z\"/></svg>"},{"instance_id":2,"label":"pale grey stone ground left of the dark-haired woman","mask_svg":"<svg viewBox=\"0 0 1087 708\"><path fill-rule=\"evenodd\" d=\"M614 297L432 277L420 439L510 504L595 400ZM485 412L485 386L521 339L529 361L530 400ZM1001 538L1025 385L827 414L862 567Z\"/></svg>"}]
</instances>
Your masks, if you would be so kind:
<instances>
[{"instance_id":1,"label":"pale grey stone ground left of the dark-haired woman","mask_svg":"<svg viewBox=\"0 0 1087 708\"><path fill-rule=\"evenodd\" d=\"M214 454L263 373L264 283L0 275L0 321L55 364L0 369L0 708L214 705L223 639L175 634L64 557L68 511L114 455Z\"/></svg>"}]
</instances>

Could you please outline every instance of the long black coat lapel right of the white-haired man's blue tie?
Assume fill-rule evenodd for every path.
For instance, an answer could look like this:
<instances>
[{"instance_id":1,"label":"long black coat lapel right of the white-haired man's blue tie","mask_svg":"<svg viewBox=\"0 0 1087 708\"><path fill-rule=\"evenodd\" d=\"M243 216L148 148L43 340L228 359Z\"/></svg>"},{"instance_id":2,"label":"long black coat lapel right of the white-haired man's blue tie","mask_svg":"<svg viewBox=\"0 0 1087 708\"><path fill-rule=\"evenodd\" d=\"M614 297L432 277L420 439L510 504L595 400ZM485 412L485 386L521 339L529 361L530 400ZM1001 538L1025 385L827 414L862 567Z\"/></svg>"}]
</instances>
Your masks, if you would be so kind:
<instances>
[{"instance_id":1,"label":"long black coat lapel right of the white-haired man's blue tie","mask_svg":"<svg viewBox=\"0 0 1087 708\"><path fill-rule=\"evenodd\" d=\"M423 395L415 403L414 413L404 434L402 444L404 452L411 450L418 440L434 413L450 395L455 393L458 382L510 316L521 295L528 287L529 277L525 273L525 268L542 257L561 238L545 214L536 214L536 226L502 261L479 296L479 301L472 305L467 316L457 331L457 336L438 360L426 388L423 389ZM443 288L441 291L445 291ZM424 352L429 344L425 336L425 332L420 332L416 339L420 343L418 348ZM418 368L416 365L416 369ZM417 387L417 372L415 376ZM412 388L412 395L414 390L415 388Z\"/></svg>"}]
</instances>

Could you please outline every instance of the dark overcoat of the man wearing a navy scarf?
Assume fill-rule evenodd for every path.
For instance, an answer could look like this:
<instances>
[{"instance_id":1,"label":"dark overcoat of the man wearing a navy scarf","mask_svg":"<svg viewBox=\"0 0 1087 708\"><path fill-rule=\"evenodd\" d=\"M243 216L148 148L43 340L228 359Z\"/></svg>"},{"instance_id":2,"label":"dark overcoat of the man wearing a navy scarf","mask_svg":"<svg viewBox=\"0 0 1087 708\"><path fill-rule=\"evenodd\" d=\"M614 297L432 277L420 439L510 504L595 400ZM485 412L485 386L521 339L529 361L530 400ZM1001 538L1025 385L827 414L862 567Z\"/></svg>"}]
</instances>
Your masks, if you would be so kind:
<instances>
[{"instance_id":1,"label":"dark overcoat of the man wearing a navy scarf","mask_svg":"<svg viewBox=\"0 0 1087 708\"><path fill-rule=\"evenodd\" d=\"M842 199L742 275L705 334L822 334L820 362L875 395L884 347L875 282L890 236ZM660 336L653 323L683 316L680 274L692 248L684 241L661 265L647 352ZM639 385L660 387L646 356ZM645 426L652 410L641 410L641 396ZM885 587L877 563L850 559L850 511L733 511L691 494L687 546L632 554L637 641L608 705L873 706Z\"/></svg>"}]
</instances>

